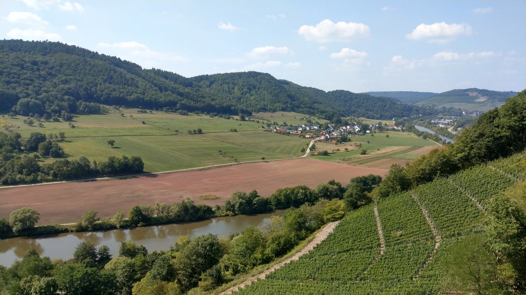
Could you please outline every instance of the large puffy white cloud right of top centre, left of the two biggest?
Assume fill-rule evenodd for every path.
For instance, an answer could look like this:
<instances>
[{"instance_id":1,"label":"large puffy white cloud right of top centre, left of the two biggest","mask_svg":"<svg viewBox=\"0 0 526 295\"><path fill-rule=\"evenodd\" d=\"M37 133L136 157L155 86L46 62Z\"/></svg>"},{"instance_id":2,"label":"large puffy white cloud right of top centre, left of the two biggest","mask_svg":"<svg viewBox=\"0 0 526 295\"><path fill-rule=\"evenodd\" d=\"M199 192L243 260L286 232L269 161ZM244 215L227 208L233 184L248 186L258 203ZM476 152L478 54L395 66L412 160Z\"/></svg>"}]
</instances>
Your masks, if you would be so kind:
<instances>
[{"instance_id":1,"label":"large puffy white cloud right of top centre, left of the two biggest","mask_svg":"<svg viewBox=\"0 0 526 295\"><path fill-rule=\"evenodd\" d=\"M352 22L338 22L335 24L330 19L325 19L316 26L301 26L298 33L308 41L350 41L368 36L369 27L365 24Z\"/></svg>"}]
</instances>

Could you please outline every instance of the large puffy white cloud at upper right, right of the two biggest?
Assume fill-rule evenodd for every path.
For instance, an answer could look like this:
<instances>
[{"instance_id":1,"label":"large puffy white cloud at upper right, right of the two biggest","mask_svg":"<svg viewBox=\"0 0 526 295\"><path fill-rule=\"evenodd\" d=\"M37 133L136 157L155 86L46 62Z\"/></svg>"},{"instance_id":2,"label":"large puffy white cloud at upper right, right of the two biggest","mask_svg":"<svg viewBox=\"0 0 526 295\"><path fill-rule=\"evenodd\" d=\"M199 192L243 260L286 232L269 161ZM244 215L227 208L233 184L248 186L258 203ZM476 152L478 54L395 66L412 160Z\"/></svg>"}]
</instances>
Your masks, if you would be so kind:
<instances>
[{"instance_id":1,"label":"large puffy white cloud at upper right, right of the two biggest","mask_svg":"<svg viewBox=\"0 0 526 295\"><path fill-rule=\"evenodd\" d=\"M411 34L406 35L408 39L420 40L430 39L433 43L446 43L452 37L459 35L471 35L472 29L467 24L434 23L431 25L420 24Z\"/></svg>"}]
</instances>

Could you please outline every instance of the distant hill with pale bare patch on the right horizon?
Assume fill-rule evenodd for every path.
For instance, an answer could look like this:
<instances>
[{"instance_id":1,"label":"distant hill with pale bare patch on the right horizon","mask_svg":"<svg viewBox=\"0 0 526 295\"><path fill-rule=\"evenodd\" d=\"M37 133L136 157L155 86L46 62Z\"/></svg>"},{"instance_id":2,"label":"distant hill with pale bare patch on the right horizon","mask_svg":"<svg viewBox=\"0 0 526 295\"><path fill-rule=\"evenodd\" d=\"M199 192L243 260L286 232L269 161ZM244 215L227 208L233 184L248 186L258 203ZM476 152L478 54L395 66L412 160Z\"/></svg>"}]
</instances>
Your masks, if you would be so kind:
<instances>
[{"instance_id":1,"label":"distant hill with pale bare patch on the right horizon","mask_svg":"<svg viewBox=\"0 0 526 295\"><path fill-rule=\"evenodd\" d=\"M470 111L489 111L500 107L514 91L493 91L478 88L454 89L417 102L420 106L453 107Z\"/></svg>"}]
</instances>

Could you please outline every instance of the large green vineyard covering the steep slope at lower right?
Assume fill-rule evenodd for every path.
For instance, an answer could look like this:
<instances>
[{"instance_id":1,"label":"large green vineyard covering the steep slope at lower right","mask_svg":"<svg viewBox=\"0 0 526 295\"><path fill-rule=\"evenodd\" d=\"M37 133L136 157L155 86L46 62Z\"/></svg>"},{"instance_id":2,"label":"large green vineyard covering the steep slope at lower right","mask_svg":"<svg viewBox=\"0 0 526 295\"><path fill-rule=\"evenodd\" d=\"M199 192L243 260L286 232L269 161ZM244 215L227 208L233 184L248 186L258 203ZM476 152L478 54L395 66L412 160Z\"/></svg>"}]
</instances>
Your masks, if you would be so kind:
<instances>
[{"instance_id":1,"label":"large green vineyard covering the steep slope at lower right","mask_svg":"<svg viewBox=\"0 0 526 295\"><path fill-rule=\"evenodd\" d=\"M439 293L451 246L483 231L484 207L526 178L525 159L521 153L479 165L378 201L383 254L371 204L348 214L307 255L238 293Z\"/></svg>"}]
</instances>

